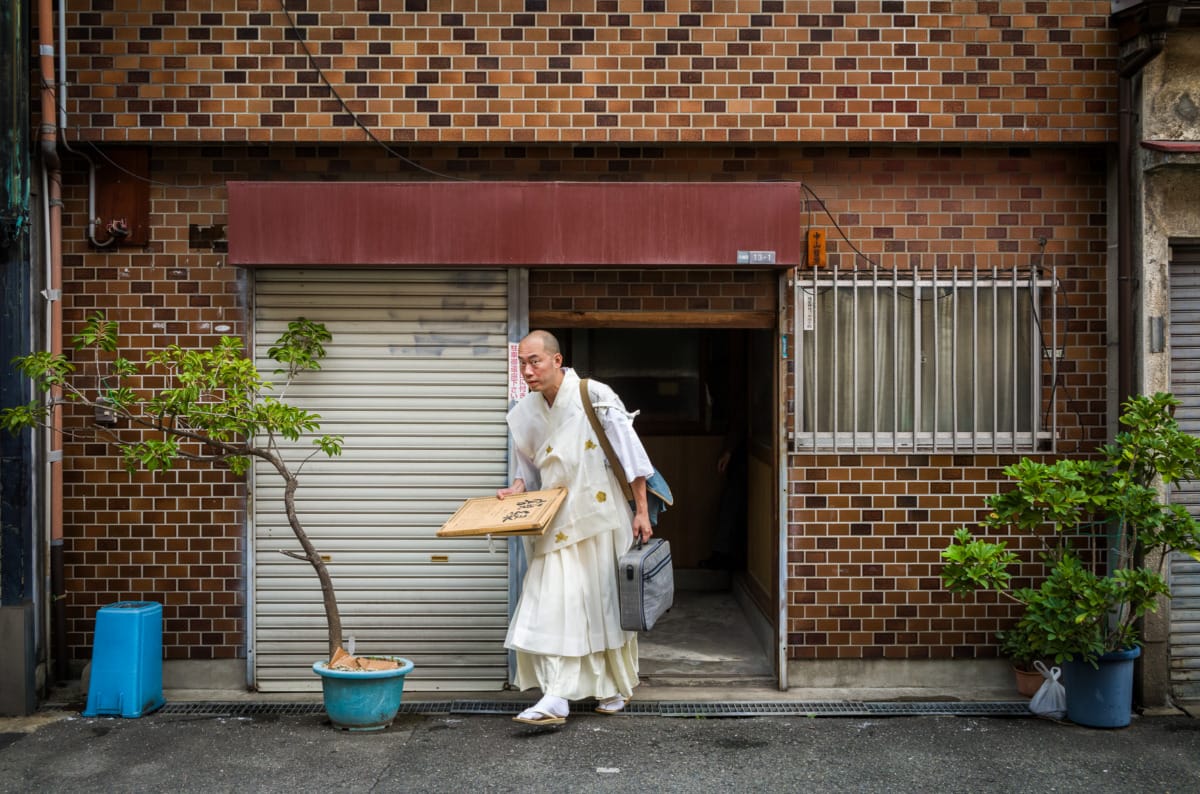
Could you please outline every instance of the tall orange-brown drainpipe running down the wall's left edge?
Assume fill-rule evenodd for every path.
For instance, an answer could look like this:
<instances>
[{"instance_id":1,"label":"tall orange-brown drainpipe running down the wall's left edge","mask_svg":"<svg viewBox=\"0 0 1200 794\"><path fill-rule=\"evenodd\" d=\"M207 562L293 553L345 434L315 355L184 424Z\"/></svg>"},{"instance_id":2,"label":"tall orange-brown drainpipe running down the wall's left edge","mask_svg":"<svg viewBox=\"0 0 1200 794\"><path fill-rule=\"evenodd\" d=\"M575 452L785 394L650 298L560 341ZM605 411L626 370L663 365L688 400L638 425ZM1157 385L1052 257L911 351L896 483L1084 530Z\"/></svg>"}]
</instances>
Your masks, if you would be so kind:
<instances>
[{"instance_id":1,"label":"tall orange-brown drainpipe running down the wall's left edge","mask_svg":"<svg viewBox=\"0 0 1200 794\"><path fill-rule=\"evenodd\" d=\"M54 72L54 4L37 2L38 67L41 72L42 124L38 127L41 155L49 216L49 248L46 251L47 279L43 296L48 302L47 349L62 351L62 163L58 150L58 82ZM52 389L52 427L62 427L62 392ZM47 524L50 539L50 658L56 680L70 675L66 632L66 582L62 565L62 435L50 432L46 444L46 482L48 487Z\"/></svg>"}]
</instances>

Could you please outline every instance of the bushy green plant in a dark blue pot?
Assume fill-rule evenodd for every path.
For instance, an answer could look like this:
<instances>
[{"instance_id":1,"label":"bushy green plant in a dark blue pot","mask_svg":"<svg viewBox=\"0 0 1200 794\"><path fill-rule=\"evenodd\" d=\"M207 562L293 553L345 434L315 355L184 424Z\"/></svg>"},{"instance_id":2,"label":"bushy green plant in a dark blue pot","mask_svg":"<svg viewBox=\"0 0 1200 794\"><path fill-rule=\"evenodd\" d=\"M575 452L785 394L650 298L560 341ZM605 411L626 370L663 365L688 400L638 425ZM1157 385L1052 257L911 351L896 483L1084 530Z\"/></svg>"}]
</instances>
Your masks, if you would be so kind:
<instances>
[{"instance_id":1,"label":"bushy green plant in a dark blue pot","mask_svg":"<svg viewBox=\"0 0 1200 794\"><path fill-rule=\"evenodd\" d=\"M1003 542L961 528L942 552L950 590L992 590L1025 608L1016 627L1037 656L1066 663L1067 716L1082 724L1129 723L1139 619L1170 595L1171 552L1200 560L1200 527L1164 498L1200 475L1200 439L1175 421L1178 404L1168 393L1132 397L1121 432L1096 457L1004 469L1015 487L988 499L983 525L1042 542L1038 588L1010 588L1020 559Z\"/></svg>"}]
</instances>

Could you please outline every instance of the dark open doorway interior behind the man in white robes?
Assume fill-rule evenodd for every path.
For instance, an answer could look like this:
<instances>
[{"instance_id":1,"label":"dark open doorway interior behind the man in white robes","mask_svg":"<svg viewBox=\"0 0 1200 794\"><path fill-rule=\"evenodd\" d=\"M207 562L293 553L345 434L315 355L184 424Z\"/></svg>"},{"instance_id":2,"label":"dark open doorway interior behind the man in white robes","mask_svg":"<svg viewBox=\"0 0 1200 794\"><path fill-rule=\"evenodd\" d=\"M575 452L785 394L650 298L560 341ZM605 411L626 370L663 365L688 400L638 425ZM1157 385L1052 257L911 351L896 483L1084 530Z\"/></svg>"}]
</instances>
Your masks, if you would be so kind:
<instances>
[{"instance_id":1,"label":"dark open doorway interior behind the man in white robes","mask_svg":"<svg viewBox=\"0 0 1200 794\"><path fill-rule=\"evenodd\" d=\"M769 459L773 427L762 417L774 416L774 335L746 329L554 333L568 366L611 385L626 409L638 411L638 435L676 498L658 528L671 541L676 603L640 638L643 680L773 684L774 628L761 608L766 594L756 593L748 577L746 462L750 455Z\"/></svg>"}]
</instances>

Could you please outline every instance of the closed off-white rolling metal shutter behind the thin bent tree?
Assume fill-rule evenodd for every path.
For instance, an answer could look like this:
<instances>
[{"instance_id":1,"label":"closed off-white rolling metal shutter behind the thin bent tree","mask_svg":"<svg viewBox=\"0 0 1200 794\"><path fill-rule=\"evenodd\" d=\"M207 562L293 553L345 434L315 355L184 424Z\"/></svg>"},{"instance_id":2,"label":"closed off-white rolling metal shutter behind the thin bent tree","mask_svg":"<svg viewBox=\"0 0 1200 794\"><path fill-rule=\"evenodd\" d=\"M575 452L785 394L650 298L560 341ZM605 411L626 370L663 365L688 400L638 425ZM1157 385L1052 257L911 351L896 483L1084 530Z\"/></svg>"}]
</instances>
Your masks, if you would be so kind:
<instances>
[{"instance_id":1,"label":"closed off-white rolling metal shutter behind the thin bent tree","mask_svg":"<svg viewBox=\"0 0 1200 794\"><path fill-rule=\"evenodd\" d=\"M440 540L467 497L508 479L504 270L258 270L254 356L306 317L334 335L319 372L286 398L344 437L302 470L298 511L328 555L343 632L358 654L412 658L414 690L498 690L506 679L508 548ZM299 461L311 439L290 444ZM319 690L320 588L299 549L283 487L259 467L253 493L253 658L264 692Z\"/></svg>"}]
</instances>

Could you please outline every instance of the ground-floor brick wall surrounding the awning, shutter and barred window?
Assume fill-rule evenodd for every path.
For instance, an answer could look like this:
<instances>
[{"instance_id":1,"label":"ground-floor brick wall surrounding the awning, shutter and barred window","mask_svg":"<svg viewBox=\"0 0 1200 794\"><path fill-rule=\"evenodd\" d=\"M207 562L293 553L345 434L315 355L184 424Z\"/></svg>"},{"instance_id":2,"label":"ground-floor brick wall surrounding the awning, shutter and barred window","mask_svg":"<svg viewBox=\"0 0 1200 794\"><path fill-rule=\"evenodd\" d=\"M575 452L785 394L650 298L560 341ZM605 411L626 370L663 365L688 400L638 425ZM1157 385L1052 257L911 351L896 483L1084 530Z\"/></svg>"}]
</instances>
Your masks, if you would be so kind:
<instances>
[{"instance_id":1,"label":"ground-floor brick wall surrounding the awning, shutter and barred window","mask_svg":"<svg viewBox=\"0 0 1200 794\"><path fill-rule=\"evenodd\" d=\"M1060 305L1066 451L1088 449L1105 425L1105 150L743 146L433 146L406 152L468 179L803 179L865 254L884 266L1028 264L1037 236L1064 281ZM244 333L245 281L224 257L191 247L188 225L227 222L226 180L410 179L373 146L180 146L151 156L151 242L90 251L86 179L65 179L65 338L106 309L149 349ZM424 178L424 175L418 174ZM832 225L830 255L852 252ZM798 229L808 223L798 219ZM670 277L668 277L670 276ZM530 273L530 311L672 301L684 308L773 308L773 277L737 271L634 271L565 278ZM703 305L697 301L703 302ZM740 302L739 302L740 301ZM228 331L220 330L228 326ZM101 447L66 450L70 643L90 652L95 609L124 598L164 603L168 658L245 655L245 529L240 481L184 467L128 477ZM1001 607L950 603L936 582L953 527L978 515L1004 458L793 456L788 633L793 656L948 656L994 652Z\"/></svg>"}]
</instances>

